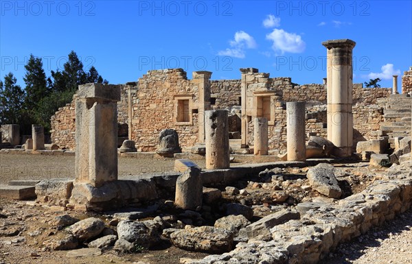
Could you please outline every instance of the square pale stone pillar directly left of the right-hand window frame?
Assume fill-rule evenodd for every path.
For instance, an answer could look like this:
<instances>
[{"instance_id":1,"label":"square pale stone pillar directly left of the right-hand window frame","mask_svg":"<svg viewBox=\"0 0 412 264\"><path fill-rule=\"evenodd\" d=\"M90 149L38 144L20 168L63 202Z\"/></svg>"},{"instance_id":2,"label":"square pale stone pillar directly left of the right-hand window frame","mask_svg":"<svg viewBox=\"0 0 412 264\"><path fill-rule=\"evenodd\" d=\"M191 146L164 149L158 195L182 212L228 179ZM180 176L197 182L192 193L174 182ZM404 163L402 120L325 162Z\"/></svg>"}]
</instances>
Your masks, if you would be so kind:
<instances>
[{"instance_id":1,"label":"square pale stone pillar directly left of the right-hand window frame","mask_svg":"<svg viewBox=\"0 0 412 264\"><path fill-rule=\"evenodd\" d=\"M251 80L254 80L253 73L258 73L259 70L255 68L241 68L240 72L242 73L241 77L241 91L240 91L240 96L241 96L241 105L242 105L242 115L240 117L241 122L242 122L242 128L241 128L241 144L242 147L247 147L247 132L248 132L248 121L247 121L247 116L252 115L252 109L248 100L248 91L247 91L247 86L249 83L251 83ZM253 96L252 96L253 99Z\"/></svg>"}]
</instances>

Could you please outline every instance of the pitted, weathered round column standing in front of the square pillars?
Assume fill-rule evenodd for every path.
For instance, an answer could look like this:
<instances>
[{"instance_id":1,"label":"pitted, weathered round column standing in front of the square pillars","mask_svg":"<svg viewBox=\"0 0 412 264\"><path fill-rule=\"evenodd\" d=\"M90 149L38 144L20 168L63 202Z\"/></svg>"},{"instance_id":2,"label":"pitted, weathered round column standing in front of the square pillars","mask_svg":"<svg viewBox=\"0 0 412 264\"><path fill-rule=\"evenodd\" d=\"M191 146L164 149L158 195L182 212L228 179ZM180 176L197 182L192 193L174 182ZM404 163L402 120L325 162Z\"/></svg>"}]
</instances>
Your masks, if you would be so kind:
<instances>
[{"instance_id":1,"label":"pitted, weathered round column standing in front of the square pillars","mask_svg":"<svg viewBox=\"0 0 412 264\"><path fill-rule=\"evenodd\" d=\"M205 111L206 169L230 167L227 110Z\"/></svg>"}]
</instances>

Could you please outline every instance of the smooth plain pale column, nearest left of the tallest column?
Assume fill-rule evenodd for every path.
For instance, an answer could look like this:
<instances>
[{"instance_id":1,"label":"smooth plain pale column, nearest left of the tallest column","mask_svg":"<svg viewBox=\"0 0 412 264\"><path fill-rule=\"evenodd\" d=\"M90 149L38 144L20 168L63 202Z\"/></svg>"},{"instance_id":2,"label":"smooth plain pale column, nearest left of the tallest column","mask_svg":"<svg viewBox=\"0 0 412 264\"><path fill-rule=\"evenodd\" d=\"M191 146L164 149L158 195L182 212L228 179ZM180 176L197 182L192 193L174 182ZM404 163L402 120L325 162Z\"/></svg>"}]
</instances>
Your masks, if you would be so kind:
<instances>
[{"instance_id":1,"label":"smooth plain pale column, nearest left of the tallest column","mask_svg":"<svg viewBox=\"0 0 412 264\"><path fill-rule=\"evenodd\" d=\"M286 134L288 160L306 160L305 102L286 103Z\"/></svg>"}]
</instances>

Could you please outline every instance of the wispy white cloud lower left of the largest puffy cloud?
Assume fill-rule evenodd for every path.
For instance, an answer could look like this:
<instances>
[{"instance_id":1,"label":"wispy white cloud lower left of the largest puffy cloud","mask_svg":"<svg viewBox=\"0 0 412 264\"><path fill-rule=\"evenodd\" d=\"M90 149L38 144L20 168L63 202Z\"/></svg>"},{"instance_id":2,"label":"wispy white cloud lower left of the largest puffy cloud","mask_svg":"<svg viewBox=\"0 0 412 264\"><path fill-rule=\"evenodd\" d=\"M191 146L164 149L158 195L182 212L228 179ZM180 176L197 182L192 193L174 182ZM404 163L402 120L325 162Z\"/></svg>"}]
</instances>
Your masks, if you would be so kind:
<instances>
[{"instance_id":1,"label":"wispy white cloud lower left of the largest puffy cloud","mask_svg":"<svg viewBox=\"0 0 412 264\"><path fill-rule=\"evenodd\" d=\"M231 56L234 58L244 58L244 49L255 49L255 39L244 31L238 31L235 33L233 40L229 42L231 48L227 48L224 51L218 51L219 56Z\"/></svg>"}]
</instances>

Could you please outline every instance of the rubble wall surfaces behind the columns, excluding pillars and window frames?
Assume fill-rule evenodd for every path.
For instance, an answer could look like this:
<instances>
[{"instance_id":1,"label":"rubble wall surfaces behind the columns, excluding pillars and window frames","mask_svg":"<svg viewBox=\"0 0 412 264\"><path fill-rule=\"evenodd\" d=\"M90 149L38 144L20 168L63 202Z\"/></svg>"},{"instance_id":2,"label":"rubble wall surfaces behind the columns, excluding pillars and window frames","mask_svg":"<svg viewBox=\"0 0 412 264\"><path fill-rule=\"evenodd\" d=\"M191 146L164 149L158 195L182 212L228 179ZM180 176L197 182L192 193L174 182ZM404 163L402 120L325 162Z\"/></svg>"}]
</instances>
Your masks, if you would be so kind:
<instances>
[{"instance_id":1,"label":"rubble wall surfaces behind the columns, excluding pillars and window frames","mask_svg":"<svg viewBox=\"0 0 412 264\"><path fill-rule=\"evenodd\" d=\"M255 92L259 95L269 91L273 99L274 118L268 125L270 150L286 151L286 101L307 101L306 134L326 137L325 85L298 85L290 77L271 78L268 73L253 73L248 78L249 103L252 103ZM402 85L404 80L406 78L402 77ZM216 98L211 99L214 103L211 108L239 112L241 80L212 80L210 89L211 98ZM358 141L380 136L377 130L383 121L384 106L378 104L377 99L390 94L391 88L363 88L362 84L354 84L354 146ZM139 82L122 86L122 99L117 107L118 122L128 125L128 135L136 141L139 151L155 151L159 132L165 128L175 129L181 146L190 147L198 140L198 96L197 84L187 79L183 69L148 71ZM181 123L176 121L176 101L183 97L190 99L190 121ZM248 115L254 115L250 108L247 111ZM253 119L248 123L248 143L253 146ZM74 135L75 107L72 102L52 117L52 142L74 149Z\"/></svg>"}]
</instances>

